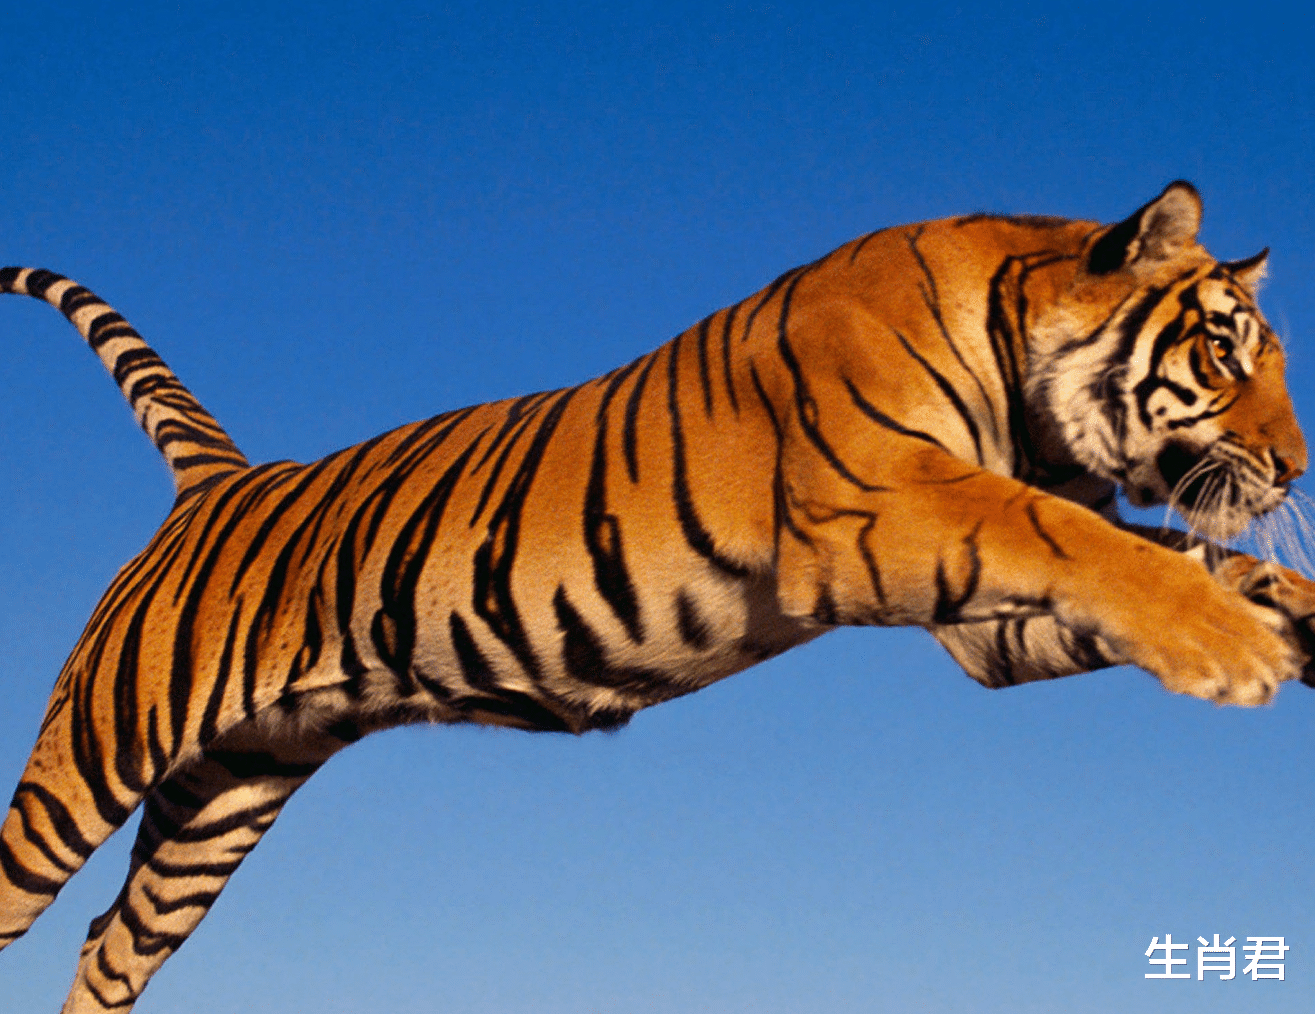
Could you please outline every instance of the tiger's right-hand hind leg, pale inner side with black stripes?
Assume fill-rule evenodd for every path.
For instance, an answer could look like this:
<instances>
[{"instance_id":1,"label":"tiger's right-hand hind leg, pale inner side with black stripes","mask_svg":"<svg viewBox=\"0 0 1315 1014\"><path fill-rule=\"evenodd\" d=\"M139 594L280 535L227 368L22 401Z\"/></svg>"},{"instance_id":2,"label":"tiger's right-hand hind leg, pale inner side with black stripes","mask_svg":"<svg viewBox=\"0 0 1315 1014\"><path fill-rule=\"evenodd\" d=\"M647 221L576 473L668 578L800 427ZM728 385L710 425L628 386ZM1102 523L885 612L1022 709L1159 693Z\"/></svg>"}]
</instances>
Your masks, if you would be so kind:
<instances>
[{"instance_id":1,"label":"tiger's right-hand hind leg, pale inner side with black stripes","mask_svg":"<svg viewBox=\"0 0 1315 1014\"><path fill-rule=\"evenodd\" d=\"M325 760L355 738L243 726L146 797L128 879L92 921L63 1014L126 1011Z\"/></svg>"}]
</instances>

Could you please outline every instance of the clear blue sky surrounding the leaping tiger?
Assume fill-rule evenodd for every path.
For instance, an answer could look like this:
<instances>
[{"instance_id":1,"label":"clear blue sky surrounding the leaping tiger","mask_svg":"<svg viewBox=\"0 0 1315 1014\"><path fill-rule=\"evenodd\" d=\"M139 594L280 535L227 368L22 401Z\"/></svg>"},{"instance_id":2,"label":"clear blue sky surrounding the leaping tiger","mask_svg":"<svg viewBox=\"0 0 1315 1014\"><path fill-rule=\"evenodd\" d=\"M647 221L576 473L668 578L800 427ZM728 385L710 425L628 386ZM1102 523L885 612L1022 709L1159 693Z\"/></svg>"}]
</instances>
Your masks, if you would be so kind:
<instances>
[{"instance_id":1,"label":"clear blue sky surrounding the leaping tiger","mask_svg":"<svg viewBox=\"0 0 1315 1014\"><path fill-rule=\"evenodd\" d=\"M0 262L114 304L251 460L577 383L880 226L1114 221L1176 178L1219 256L1273 247L1315 425L1297 7L103 7L5 11ZM58 314L0 302L0 338L8 794L171 487ZM1304 1013L1312 733L1299 685L1256 712L1134 669L990 693L915 630L615 735L385 733L138 1010ZM0 954L0 1010L58 1009L130 834ZM1165 932L1283 935L1286 981L1148 981Z\"/></svg>"}]
</instances>

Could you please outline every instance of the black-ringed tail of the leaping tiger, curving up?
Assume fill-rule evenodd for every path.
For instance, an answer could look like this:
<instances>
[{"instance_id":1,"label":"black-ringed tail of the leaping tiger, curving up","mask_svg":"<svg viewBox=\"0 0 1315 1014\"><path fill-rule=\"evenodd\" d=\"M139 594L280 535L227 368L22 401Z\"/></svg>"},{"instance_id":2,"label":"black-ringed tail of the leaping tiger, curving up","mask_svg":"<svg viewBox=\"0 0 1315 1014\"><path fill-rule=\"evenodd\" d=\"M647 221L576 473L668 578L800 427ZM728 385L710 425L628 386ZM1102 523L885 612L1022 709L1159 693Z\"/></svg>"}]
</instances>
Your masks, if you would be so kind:
<instances>
[{"instance_id":1,"label":"black-ringed tail of the leaping tiger, curving up","mask_svg":"<svg viewBox=\"0 0 1315 1014\"><path fill-rule=\"evenodd\" d=\"M112 306L51 271L0 268L0 293L42 299L58 309L100 356L137 422L164 455L179 498L247 459L155 351Z\"/></svg>"}]
</instances>

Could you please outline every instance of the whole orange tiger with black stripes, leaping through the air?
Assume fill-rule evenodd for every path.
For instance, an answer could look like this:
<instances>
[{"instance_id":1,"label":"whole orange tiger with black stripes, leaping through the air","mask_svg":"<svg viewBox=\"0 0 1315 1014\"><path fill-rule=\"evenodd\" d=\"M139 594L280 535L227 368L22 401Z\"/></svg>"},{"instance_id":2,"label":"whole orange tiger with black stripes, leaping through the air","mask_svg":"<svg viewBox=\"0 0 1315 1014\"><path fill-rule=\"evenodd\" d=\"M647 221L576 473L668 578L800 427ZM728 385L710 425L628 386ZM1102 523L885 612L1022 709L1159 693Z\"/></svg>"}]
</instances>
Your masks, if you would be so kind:
<instances>
[{"instance_id":1,"label":"whole orange tiger with black stripes, leaping through the air","mask_svg":"<svg viewBox=\"0 0 1315 1014\"><path fill-rule=\"evenodd\" d=\"M143 808L66 1014L132 1009L321 764L405 723L614 730L839 626L988 688L1311 681L1315 584L1228 547L1307 451L1256 305L1166 187L1114 225L869 233L577 387L251 466L87 288L58 308L176 498L60 671L0 826L0 947ZM1187 530L1126 523L1119 498Z\"/></svg>"}]
</instances>

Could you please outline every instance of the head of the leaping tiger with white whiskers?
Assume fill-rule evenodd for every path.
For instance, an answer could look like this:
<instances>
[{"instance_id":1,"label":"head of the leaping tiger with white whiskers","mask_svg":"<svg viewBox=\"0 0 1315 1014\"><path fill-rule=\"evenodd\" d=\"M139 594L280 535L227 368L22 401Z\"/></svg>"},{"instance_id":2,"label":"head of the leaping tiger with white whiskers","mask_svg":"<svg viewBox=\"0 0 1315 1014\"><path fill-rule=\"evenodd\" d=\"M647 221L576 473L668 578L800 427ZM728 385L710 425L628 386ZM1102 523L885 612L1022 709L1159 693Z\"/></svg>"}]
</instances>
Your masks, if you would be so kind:
<instances>
[{"instance_id":1,"label":"head of the leaping tiger with white whiskers","mask_svg":"<svg viewBox=\"0 0 1315 1014\"><path fill-rule=\"evenodd\" d=\"M1201 197L1173 183L1091 233L1041 316L1030 389L1089 472L1137 506L1170 504L1215 539L1273 510L1306 470L1283 350L1256 306L1268 251L1218 262Z\"/></svg>"}]
</instances>

